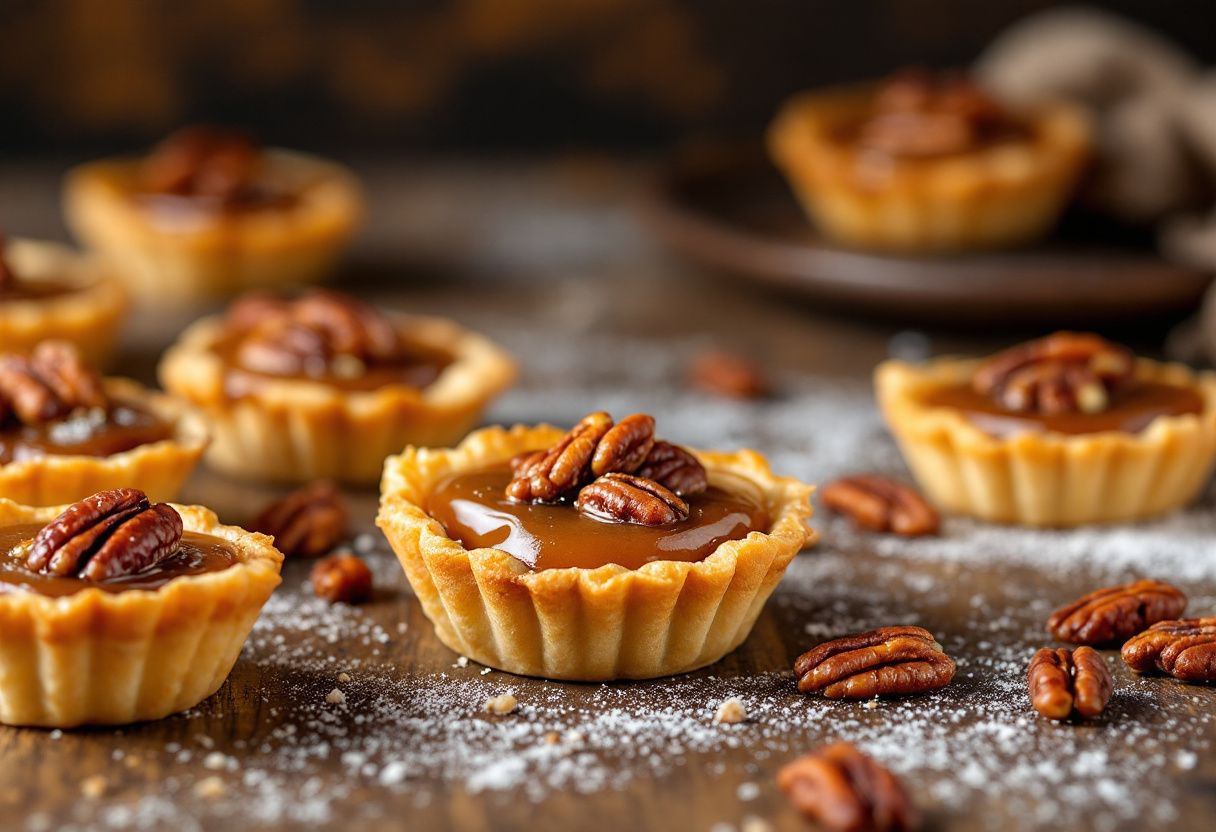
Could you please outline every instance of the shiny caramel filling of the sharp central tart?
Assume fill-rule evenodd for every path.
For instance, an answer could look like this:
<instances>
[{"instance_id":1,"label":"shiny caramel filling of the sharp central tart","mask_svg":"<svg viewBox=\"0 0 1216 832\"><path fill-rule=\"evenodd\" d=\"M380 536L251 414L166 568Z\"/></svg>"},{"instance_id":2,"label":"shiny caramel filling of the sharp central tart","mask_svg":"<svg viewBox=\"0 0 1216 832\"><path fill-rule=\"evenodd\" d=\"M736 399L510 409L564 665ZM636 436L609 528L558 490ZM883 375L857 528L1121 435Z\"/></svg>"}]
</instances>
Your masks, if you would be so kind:
<instances>
[{"instance_id":1,"label":"shiny caramel filling of the sharp central tart","mask_svg":"<svg viewBox=\"0 0 1216 832\"><path fill-rule=\"evenodd\" d=\"M637 569L654 561L696 562L727 540L766 532L769 512L750 482L731 477L688 499L688 519L669 525L598 521L567 502L517 502L503 494L511 470L499 465L443 479L426 511L466 549L499 549L531 569Z\"/></svg>"}]
</instances>

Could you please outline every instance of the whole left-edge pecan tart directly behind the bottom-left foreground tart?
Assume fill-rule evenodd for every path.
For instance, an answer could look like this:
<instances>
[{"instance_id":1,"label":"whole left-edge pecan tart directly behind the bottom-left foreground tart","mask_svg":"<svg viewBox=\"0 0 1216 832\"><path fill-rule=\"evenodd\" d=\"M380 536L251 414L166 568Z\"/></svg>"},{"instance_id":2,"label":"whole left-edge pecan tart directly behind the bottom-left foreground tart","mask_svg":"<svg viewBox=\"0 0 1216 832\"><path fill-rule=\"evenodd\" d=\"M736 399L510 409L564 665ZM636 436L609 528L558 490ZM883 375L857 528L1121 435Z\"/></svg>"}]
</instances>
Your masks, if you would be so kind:
<instances>
[{"instance_id":1,"label":"whole left-edge pecan tart directly behind the bottom-left foreground tart","mask_svg":"<svg viewBox=\"0 0 1216 832\"><path fill-rule=\"evenodd\" d=\"M0 496L54 506L133 485L168 500L206 446L193 407L100 377L67 342L0 354Z\"/></svg>"}]
</instances>

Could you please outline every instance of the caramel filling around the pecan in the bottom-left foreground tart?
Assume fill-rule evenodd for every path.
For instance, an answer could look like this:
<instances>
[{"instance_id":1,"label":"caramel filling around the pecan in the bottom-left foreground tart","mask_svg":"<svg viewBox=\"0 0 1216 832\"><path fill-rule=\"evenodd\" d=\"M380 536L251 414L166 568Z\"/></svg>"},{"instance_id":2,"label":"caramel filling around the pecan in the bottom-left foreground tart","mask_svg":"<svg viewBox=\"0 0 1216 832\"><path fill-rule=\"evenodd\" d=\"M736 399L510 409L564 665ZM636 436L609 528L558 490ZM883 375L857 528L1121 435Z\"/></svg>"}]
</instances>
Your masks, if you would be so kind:
<instances>
[{"instance_id":1,"label":"caramel filling around the pecan in the bottom-left foreground tart","mask_svg":"<svg viewBox=\"0 0 1216 832\"><path fill-rule=\"evenodd\" d=\"M96 588L106 592L154 590L174 578L221 572L237 563L232 545L221 538L186 532L178 550L156 566L129 575L92 581L84 578L44 575L26 568L29 546L43 529L39 523L21 523L0 528L0 592L38 592L63 596Z\"/></svg>"}]
</instances>

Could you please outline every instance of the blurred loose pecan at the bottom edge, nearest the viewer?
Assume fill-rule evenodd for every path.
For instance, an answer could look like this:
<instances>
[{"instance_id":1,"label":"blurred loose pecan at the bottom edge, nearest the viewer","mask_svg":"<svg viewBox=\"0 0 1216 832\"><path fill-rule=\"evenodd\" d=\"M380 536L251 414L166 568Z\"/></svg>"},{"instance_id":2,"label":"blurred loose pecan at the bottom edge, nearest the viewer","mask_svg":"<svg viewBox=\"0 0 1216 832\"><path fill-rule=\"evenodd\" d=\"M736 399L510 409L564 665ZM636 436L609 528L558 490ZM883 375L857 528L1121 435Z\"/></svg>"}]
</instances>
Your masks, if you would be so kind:
<instances>
[{"instance_id":1,"label":"blurred loose pecan at the bottom edge, nearest the viewer","mask_svg":"<svg viewBox=\"0 0 1216 832\"><path fill-rule=\"evenodd\" d=\"M846 742L787 763L777 787L827 832L916 832L921 817L902 783Z\"/></svg>"}]
</instances>

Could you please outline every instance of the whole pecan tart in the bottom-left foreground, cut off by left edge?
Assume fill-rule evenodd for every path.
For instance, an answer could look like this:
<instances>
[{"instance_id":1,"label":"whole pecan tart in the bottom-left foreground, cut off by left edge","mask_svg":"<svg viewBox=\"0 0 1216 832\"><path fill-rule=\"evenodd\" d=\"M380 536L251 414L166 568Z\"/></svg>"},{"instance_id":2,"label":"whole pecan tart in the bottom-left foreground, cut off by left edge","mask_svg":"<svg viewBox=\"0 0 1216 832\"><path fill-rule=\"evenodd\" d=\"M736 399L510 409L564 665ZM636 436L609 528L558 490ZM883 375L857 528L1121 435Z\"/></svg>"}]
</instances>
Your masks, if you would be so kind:
<instances>
[{"instance_id":1,"label":"whole pecan tart in the bottom-left foreground, cut off by left edge","mask_svg":"<svg viewBox=\"0 0 1216 832\"><path fill-rule=\"evenodd\" d=\"M270 538L136 489L0 500L0 723L161 719L214 693L278 585Z\"/></svg>"}]
</instances>

